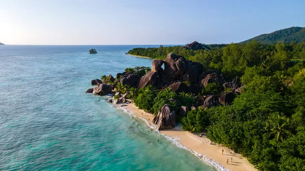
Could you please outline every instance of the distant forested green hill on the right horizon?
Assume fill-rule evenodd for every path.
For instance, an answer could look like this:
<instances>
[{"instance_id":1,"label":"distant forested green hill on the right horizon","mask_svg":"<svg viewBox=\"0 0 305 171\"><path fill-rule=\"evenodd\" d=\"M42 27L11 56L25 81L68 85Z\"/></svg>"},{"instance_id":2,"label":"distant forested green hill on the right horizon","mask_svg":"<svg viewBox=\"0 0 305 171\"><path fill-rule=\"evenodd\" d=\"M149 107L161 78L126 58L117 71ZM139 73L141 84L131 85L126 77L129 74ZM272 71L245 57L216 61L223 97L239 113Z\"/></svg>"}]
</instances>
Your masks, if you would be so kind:
<instances>
[{"instance_id":1,"label":"distant forested green hill on the right horizon","mask_svg":"<svg viewBox=\"0 0 305 171\"><path fill-rule=\"evenodd\" d=\"M305 27L290 27L275 32L259 35L252 39L240 42L247 43L252 40L257 40L263 44L277 43L280 41L290 43L294 41L295 43L305 42Z\"/></svg>"}]
</instances>

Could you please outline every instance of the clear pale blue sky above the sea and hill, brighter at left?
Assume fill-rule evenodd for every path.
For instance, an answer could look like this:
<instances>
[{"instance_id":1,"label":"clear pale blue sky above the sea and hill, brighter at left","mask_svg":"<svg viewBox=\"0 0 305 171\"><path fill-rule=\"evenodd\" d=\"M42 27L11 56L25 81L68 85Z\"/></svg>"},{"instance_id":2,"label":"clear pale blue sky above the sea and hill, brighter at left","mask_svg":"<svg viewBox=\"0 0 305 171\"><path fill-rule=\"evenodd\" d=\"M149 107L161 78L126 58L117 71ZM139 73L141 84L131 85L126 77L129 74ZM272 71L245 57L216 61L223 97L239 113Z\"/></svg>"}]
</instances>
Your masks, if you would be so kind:
<instances>
[{"instance_id":1,"label":"clear pale blue sky above the sea and hill, brighter at left","mask_svg":"<svg viewBox=\"0 0 305 171\"><path fill-rule=\"evenodd\" d=\"M305 26L305 1L0 0L10 45L177 45L241 42Z\"/></svg>"}]
</instances>

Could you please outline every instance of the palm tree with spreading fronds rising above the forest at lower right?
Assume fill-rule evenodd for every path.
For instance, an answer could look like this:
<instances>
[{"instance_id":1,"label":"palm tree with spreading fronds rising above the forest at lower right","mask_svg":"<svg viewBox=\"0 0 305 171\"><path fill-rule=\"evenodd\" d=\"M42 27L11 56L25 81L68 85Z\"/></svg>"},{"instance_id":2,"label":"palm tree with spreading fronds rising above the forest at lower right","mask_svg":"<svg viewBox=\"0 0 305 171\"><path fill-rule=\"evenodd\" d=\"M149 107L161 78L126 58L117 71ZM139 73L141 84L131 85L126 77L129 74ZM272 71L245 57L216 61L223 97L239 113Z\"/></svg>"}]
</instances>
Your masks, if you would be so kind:
<instances>
[{"instance_id":1,"label":"palm tree with spreading fronds rising above the forest at lower right","mask_svg":"<svg viewBox=\"0 0 305 171\"><path fill-rule=\"evenodd\" d=\"M289 118L287 118L284 115L278 114L278 123L275 127L270 129L272 131L270 132L270 134L274 134L275 138L278 141L283 142L283 138L286 138L287 135L290 133L287 130L288 124L289 124Z\"/></svg>"}]
</instances>

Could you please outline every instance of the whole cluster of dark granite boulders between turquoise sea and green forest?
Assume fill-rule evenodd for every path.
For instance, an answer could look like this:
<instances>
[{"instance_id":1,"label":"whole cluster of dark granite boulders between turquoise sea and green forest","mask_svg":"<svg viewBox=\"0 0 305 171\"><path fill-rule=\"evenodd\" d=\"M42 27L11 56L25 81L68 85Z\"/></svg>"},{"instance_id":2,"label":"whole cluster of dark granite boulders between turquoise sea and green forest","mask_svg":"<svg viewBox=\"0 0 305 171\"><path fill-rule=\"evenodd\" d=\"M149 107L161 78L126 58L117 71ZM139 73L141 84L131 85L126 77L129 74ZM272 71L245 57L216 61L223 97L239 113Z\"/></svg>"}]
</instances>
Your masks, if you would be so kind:
<instances>
[{"instance_id":1,"label":"whole cluster of dark granite boulders between turquoise sea and green forest","mask_svg":"<svg viewBox=\"0 0 305 171\"><path fill-rule=\"evenodd\" d=\"M163 67L162 67L163 66ZM238 78L226 82L224 76L217 70L203 71L202 64L187 60L183 56L169 53L165 60L154 59L151 62L151 71L144 76L139 77L134 73L117 73L116 77L108 76L108 80L114 84L107 84L104 80L92 80L94 88L89 88L86 92L98 95L106 95L114 91L116 99L111 100L113 104L118 102L128 102L127 94L121 95L115 91L116 85L120 82L121 85L129 85L141 89L148 85L158 89L171 88L177 94L180 92L198 94L202 89L210 83L217 83L219 87L231 88L232 91L222 95L197 95L195 96L196 104L190 107L180 107L177 115L186 117L189 110L194 110L198 107L210 108L218 105L231 104L235 94L242 92L241 85L238 84ZM114 94L113 93L113 94ZM175 126L175 111L171 111L168 105L161 108L159 114L154 118L154 123L158 125L158 129L167 129Z\"/></svg>"}]
</instances>

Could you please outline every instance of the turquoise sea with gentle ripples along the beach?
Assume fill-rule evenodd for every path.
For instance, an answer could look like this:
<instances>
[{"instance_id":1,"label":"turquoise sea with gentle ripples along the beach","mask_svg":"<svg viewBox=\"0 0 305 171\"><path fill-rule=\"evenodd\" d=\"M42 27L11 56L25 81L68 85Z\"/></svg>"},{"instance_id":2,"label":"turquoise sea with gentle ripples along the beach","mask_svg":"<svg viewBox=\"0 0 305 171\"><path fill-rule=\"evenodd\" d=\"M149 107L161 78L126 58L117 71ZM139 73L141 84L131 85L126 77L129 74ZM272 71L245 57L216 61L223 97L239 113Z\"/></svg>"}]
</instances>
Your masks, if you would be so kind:
<instances>
[{"instance_id":1,"label":"turquoise sea with gentle ripples along the beach","mask_svg":"<svg viewBox=\"0 0 305 171\"><path fill-rule=\"evenodd\" d=\"M124 54L134 47L0 46L0 170L215 170L84 93L101 75L150 66Z\"/></svg>"}]
</instances>

